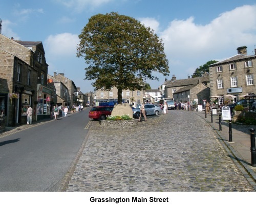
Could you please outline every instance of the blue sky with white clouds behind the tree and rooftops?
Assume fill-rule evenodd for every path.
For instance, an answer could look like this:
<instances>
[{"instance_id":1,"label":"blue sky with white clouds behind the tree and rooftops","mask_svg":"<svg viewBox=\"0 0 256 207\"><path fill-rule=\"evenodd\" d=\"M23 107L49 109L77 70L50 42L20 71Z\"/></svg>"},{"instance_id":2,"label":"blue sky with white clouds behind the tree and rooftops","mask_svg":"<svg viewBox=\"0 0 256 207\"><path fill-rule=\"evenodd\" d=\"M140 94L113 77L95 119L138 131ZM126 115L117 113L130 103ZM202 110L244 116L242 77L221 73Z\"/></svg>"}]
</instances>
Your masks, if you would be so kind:
<instances>
[{"instance_id":1,"label":"blue sky with white clouds behind the tree and rooftops","mask_svg":"<svg viewBox=\"0 0 256 207\"><path fill-rule=\"evenodd\" d=\"M98 13L118 12L138 19L163 39L168 77L147 81L153 89L173 75L191 76L209 60L223 60L246 45L256 48L255 0L45 0L2 1L2 34L16 40L42 41L48 73L65 73L83 93L94 90L84 79L84 59L76 57L78 35Z\"/></svg>"}]
</instances>

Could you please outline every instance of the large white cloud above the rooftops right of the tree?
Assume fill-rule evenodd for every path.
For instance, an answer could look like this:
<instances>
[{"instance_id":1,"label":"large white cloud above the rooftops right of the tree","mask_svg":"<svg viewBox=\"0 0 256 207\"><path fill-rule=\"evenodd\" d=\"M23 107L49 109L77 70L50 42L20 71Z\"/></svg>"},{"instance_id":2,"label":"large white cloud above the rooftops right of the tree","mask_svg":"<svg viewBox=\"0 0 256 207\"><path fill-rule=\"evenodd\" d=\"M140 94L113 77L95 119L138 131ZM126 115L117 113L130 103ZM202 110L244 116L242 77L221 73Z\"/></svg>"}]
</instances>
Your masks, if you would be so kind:
<instances>
[{"instance_id":1,"label":"large white cloud above the rooftops right of the tree","mask_svg":"<svg viewBox=\"0 0 256 207\"><path fill-rule=\"evenodd\" d=\"M222 13L207 25L197 25L194 17L175 19L159 34L169 59L170 74L186 78L186 73L194 73L209 60L231 57L243 45L253 47L256 43L256 6L242 6Z\"/></svg>"}]
</instances>

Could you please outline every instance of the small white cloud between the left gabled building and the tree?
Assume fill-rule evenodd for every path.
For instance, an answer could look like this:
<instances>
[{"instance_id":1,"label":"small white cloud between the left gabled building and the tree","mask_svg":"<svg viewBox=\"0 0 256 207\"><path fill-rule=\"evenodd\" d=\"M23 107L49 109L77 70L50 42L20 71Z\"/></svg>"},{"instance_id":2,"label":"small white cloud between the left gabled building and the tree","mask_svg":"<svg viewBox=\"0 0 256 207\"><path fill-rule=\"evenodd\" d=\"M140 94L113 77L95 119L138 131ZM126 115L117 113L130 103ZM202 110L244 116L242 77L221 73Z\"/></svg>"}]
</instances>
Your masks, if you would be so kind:
<instances>
[{"instance_id":1,"label":"small white cloud between the left gabled building and the tree","mask_svg":"<svg viewBox=\"0 0 256 207\"><path fill-rule=\"evenodd\" d=\"M76 48L79 43L78 35L70 33L62 33L50 35L44 42L44 47L47 50L47 56L51 58L65 58L76 56Z\"/></svg>"}]
</instances>

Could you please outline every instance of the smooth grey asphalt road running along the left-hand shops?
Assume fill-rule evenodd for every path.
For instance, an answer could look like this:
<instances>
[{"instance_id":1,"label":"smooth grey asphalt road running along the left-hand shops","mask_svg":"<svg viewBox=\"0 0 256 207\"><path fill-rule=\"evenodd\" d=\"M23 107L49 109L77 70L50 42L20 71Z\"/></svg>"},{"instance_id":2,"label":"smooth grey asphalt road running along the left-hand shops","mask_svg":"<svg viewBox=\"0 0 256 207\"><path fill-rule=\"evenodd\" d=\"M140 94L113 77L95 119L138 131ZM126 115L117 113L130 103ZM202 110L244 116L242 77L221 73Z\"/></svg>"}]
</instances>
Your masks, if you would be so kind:
<instances>
[{"instance_id":1,"label":"smooth grey asphalt road running along the left-hand shops","mask_svg":"<svg viewBox=\"0 0 256 207\"><path fill-rule=\"evenodd\" d=\"M57 191L88 133L89 108L0 139L0 191Z\"/></svg>"}]
</instances>

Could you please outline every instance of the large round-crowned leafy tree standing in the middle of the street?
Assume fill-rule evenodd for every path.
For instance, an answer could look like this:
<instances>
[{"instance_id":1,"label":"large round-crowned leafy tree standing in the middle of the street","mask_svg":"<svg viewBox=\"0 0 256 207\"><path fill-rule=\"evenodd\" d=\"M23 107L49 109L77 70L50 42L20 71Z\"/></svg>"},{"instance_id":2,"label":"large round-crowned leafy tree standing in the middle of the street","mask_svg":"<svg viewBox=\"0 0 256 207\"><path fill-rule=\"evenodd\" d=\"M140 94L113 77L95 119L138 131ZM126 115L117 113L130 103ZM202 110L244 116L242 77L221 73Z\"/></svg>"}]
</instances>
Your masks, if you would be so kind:
<instances>
[{"instance_id":1,"label":"large round-crowned leafy tree standing in the middle of the street","mask_svg":"<svg viewBox=\"0 0 256 207\"><path fill-rule=\"evenodd\" d=\"M97 14L89 19L79 35L77 57L88 67L84 80L95 80L95 89L142 89L145 80L159 80L153 72L168 75L168 60L162 40L154 31L129 16Z\"/></svg>"}]
</instances>

